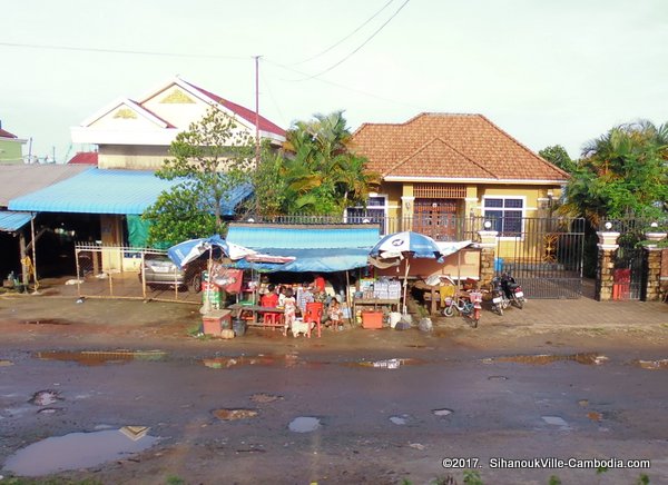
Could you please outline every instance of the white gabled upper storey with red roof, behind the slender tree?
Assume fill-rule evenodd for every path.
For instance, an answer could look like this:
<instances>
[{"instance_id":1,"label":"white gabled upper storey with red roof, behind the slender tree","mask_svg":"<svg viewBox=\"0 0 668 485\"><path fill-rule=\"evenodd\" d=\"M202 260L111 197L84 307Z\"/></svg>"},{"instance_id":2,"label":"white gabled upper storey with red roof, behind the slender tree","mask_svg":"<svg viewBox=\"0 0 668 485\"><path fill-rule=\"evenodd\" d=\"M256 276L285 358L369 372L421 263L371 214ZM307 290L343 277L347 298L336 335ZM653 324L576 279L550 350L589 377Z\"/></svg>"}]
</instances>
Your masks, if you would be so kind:
<instances>
[{"instance_id":1,"label":"white gabled upper storey with red roof, behind the slender tree","mask_svg":"<svg viewBox=\"0 0 668 485\"><path fill-rule=\"evenodd\" d=\"M173 79L132 100L120 98L71 128L75 143L97 145L99 168L155 170L168 157L176 136L199 121L209 107L236 119L237 128L279 146L285 130L255 111L199 88Z\"/></svg>"}]
</instances>

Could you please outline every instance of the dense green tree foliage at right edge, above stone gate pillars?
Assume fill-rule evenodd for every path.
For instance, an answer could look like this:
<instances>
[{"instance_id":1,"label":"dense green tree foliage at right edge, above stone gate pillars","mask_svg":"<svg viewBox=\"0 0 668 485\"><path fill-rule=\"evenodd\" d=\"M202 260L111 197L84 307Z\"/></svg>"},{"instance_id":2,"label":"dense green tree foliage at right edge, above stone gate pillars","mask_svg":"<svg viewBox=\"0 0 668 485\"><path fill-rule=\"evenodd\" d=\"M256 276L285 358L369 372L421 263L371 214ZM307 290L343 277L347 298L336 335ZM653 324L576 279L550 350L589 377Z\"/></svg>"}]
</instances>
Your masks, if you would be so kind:
<instances>
[{"instance_id":1,"label":"dense green tree foliage at right edge, above stone gate pillars","mask_svg":"<svg viewBox=\"0 0 668 485\"><path fill-rule=\"evenodd\" d=\"M621 125L584 146L583 158L567 186L560 209L601 218L666 215L668 200L668 123Z\"/></svg>"}]
</instances>

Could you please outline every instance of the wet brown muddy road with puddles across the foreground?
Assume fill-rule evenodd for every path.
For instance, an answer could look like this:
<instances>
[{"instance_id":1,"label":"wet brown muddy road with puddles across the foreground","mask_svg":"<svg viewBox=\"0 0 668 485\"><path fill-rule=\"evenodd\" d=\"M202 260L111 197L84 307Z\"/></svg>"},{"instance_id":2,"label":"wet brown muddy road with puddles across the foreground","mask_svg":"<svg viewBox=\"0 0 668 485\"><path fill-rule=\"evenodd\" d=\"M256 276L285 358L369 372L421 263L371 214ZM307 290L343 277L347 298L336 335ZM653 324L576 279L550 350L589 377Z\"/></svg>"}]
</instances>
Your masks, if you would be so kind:
<instances>
[{"instance_id":1,"label":"wet brown muddy road with puddles across the foreground","mask_svg":"<svg viewBox=\"0 0 668 485\"><path fill-rule=\"evenodd\" d=\"M485 313L478 329L443 319L430 334L252 328L216 340L191 336L199 314L186 305L0 298L0 473L426 484L463 483L468 468L485 484L667 483L667 307L559 326L541 325L538 305ZM45 453L53 459L35 458ZM541 457L615 466L498 467Z\"/></svg>"}]
</instances>

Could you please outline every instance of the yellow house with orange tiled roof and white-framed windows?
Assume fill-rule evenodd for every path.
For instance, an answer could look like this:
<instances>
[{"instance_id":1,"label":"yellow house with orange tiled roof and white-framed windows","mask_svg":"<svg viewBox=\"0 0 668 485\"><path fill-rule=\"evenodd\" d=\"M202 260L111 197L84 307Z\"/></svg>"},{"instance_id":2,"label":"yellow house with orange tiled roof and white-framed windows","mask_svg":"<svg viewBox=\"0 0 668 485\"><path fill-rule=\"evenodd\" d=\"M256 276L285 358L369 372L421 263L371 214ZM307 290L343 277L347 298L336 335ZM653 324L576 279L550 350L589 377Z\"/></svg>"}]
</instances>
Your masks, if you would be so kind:
<instances>
[{"instance_id":1,"label":"yellow house with orange tiled roof and white-framed windows","mask_svg":"<svg viewBox=\"0 0 668 485\"><path fill-rule=\"evenodd\" d=\"M365 208L348 214L375 211L393 221L386 232L438 240L471 238L487 222L498 231L499 256L517 257L518 241L525 246L527 231L550 216L568 179L482 115L424 112L404 123L364 123L352 147L382 181Z\"/></svg>"}]
</instances>

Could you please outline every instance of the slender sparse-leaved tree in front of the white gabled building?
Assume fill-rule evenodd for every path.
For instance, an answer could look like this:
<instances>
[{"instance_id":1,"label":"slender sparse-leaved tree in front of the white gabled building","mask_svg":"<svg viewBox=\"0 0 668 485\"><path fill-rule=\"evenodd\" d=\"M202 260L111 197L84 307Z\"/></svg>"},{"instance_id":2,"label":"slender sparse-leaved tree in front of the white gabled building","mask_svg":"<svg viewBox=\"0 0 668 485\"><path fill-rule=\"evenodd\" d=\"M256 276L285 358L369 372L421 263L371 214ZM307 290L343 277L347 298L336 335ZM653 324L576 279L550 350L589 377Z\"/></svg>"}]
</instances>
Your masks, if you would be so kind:
<instances>
[{"instance_id":1,"label":"slender sparse-leaved tree in front of the white gabled building","mask_svg":"<svg viewBox=\"0 0 668 485\"><path fill-rule=\"evenodd\" d=\"M234 189L250 180L253 154L250 136L214 107L178 133L169 147L171 158L156 176L180 182L144 214L151 222L148 244L176 244L220 232L223 207L230 202Z\"/></svg>"}]
</instances>

